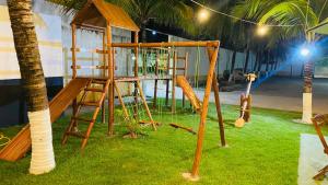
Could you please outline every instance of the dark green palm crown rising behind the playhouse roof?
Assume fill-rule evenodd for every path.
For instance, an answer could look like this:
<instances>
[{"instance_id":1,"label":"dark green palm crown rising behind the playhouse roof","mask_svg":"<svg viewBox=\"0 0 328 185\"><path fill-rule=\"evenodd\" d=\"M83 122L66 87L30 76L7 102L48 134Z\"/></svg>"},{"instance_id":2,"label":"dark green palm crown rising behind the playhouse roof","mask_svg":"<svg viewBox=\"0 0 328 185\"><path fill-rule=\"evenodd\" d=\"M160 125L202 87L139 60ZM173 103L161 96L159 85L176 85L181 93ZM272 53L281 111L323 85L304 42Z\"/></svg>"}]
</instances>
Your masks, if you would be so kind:
<instances>
[{"instance_id":1,"label":"dark green palm crown rising behind the playhouse roof","mask_svg":"<svg viewBox=\"0 0 328 185\"><path fill-rule=\"evenodd\" d=\"M63 5L65 12L81 9L87 0L48 0ZM195 33L194 11L184 0L107 0L121 7L140 26L141 42L145 42L147 25L152 20L157 24L175 26L189 34Z\"/></svg>"}]
</instances>

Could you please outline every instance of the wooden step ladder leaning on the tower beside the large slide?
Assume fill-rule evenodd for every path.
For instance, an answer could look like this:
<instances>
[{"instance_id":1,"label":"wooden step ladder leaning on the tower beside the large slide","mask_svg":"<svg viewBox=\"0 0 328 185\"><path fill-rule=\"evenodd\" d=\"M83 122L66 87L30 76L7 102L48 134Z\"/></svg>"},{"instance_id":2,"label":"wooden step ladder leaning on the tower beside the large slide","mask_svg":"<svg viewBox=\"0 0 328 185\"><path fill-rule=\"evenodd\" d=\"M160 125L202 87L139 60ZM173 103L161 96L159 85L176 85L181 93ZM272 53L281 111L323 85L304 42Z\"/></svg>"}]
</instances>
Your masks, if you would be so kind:
<instances>
[{"instance_id":1,"label":"wooden step ladder leaning on the tower beside the large slide","mask_svg":"<svg viewBox=\"0 0 328 185\"><path fill-rule=\"evenodd\" d=\"M67 143L69 136L73 136L73 137L81 138L82 139L81 149L85 148L91 130L94 126L94 123L96 122L96 117L101 111L102 104L104 103L109 83L110 83L109 79L90 80L90 82L86 84L85 89L83 90L83 94L81 96L80 102L78 103L75 108L73 107L73 109L75 111L73 112L70 124L63 134L62 141L61 141L62 144ZM99 85L102 88L95 88L95 85ZM91 92L99 93L99 97L97 101L94 102L85 101L85 97ZM86 119L79 116L82 107L94 107L94 112L91 119ZM85 132L78 130L78 122L89 124Z\"/></svg>"}]
</instances>

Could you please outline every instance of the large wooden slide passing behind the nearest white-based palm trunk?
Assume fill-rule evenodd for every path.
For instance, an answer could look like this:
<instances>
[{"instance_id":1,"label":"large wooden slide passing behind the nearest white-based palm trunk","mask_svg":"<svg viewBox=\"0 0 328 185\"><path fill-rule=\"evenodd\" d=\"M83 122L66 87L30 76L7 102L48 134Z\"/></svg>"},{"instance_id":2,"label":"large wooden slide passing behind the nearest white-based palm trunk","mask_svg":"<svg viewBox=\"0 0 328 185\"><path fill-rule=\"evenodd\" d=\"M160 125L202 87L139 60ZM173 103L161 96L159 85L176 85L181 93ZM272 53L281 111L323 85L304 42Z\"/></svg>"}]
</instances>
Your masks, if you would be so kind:
<instances>
[{"instance_id":1,"label":"large wooden slide passing behind the nearest white-based palm trunk","mask_svg":"<svg viewBox=\"0 0 328 185\"><path fill-rule=\"evenodd\" d=\"M91 79L77 78L67 84L49 103L51 123L63 113L71 102L87 85ZM0 160L16 161L31 149L30 125L26 125L12 140L0 151Z\"/></svg>"}]
</instances>

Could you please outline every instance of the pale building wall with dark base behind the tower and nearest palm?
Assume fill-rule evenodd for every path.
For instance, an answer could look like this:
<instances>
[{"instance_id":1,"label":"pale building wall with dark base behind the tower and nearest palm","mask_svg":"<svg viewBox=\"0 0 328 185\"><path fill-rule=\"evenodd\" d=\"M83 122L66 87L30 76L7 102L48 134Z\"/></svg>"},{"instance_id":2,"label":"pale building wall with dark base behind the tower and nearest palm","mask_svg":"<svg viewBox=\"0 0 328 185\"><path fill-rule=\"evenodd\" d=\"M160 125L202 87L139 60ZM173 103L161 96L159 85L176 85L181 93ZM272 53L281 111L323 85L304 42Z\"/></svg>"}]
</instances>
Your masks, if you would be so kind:
<instances>
[{"instance_id":1,"label":"pale building wall with dark base behind the tower and nearest palm","mask_svg":"<svg viewBox=\"0 0 328 185\"><path fill-rule=\"evenodd\" d=\"M48 97L52 99L71 78L71 16L63 16L58 5L45 0L34 0L33 11L42 63L46 77ZM21 88L21 76L15 55L13 36L5 0L0 0L0 127L26 124L26 105ZM131 33L113 30L114 42L130 42ZM92 32L78 33L78 46L81 48L101 48L102 36ZM116 74L126 74L131 58L128 50L117 49ZM81 65L103 62L102 56L79 54ZM130 66L132 68L132 66ZM82 70L81 74L97 74L95 70Z\"/></svg>"}]
</instances>

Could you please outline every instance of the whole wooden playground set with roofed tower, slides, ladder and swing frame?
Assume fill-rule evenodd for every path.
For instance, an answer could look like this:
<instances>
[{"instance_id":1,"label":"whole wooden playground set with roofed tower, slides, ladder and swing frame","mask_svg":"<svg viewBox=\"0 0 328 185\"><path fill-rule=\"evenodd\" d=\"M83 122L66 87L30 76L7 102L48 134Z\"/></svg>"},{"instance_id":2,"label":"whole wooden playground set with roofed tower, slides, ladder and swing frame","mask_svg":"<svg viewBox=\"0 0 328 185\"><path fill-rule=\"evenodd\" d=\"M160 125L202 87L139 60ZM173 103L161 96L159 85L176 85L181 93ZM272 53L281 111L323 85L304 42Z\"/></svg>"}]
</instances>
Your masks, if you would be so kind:
<instances>
[{"instance_id":1,"label":"whole wooden playground set with roofed tower, slides, ladder and swing frame","mask_svg":"<svg viewBox=\"0 0 328 185\"><path fill-rule=\"evenodd\" d=\"M87 139L90 138L92 128L96 123L96 118L99 112L102 112L102 122L105 122L105 100L107 95L108 100L108 135L114 135L114 108L115 108L115 91L118 96L118 100L122 107L125 107L126 102L122 99L122 95L117 88L118 83L133 83L134 93L133 99L134 103L141 102L147 111L148 120L140 120L151 125L154 129L156 129L157 123L153 120L151 112L148 107L148 104L144 99L144 94L142 92L142 88L140 82L142 80L172 80L172 112L175 112L175 85L176 83L183 89L185 95L190 101L191 105L195 107L197 113L200 115L199 128L197 131L197 148L195 152L195 160L191 173L185 175L185 177L189 177L191 180L197 180L199 174L199 164L201 160L202 152L202 143L204 138L204 128L206 120L208 115L209 100L210 93L213 89L214 97L215 97L215 107L218 114L218 123L221 135L221 144L225 146L224 138L224 127L223 127L223 118L221 114L221 105L219 97L219 86L216 81L216 76L214 72L215 65L218 61L219 47L220 42L172 42L172 43L138 43L138 32L139 27L134 24L134 22L128 16L126 12L124 12L120 8L113 5L110 3L105 2L104 0L90 0L85 4L85 7L80 10L74 16L72 23L72 80L63 88L56 97L49 103L50 117L51 123L54 123L59 116L68 108L70 104L72 104L72 116L69 123L67 130L65 131L62 143L67 143L69 137L78 137L82 139L81 149L86 146ZM125 28L133 32L134 34L134 43L113 43L112 42L112 27ZM98 66L82 66L78 65L77 55L78 53L83 51L83 48L79 48L77 46L77 30L92 31L97 32L103 35L103 48L102 49L91 49L89 51L96 53L103 56L103 63ZM179 59L177 53L174 48L178 47L204 47L208 51L209 58L209 70L206 80L206 89L203 94L203 100L200 101L195 94L192 88L188 83L186 79L186 69L187 69L187 58L185 56L183 60L184 71L183 74L176 76L176 63ZM131 49L131 53L134 55L134 66L133 66L133 76L131 77L115 77L115 49L116 48L126 48ZM156 63L156 72L155 76L139 76L139 54L143 48L148 49L159 49L160 50L169 50L171 56L173 56L173 67L167 65L166 70L172 68L172 74L169 72L166 76L159 74L160 65ZM169 59L171 57L168 57ZM159 61L159 60L156 60ZM119 63L118 63L119 65ZM101 76L97 77L84 77L79 76L79 69L96 69L101 71ZM168 85L167 85L168 86ZM86 96L90 93L98 93L97 100L93 102L86 101ZM166 96L168 90L166 91ZM154 94L156 94L156 88L154 90ZM78 96L81 95L79 99ZM137 97L139 95L139 97ZM166 99L167 100L167 99ZM166 101L167 102L167 101ZM156 99L154 100L154 104L156 104ZM84 107L93 107L92 118L81 117L81 109ZM124 114L126 119L130 119L131 117L138 117L138 106L133 109L133 116L131 116L126 108L124 109ZM80 131L79 125L82 123L86 124L86 131ZM24 154L31 149L31 134L30 126L25 126L13 139L9 142L1 151L0 159L7 161L16 161L24 157Z\"/></svg>"}]
</instances>

